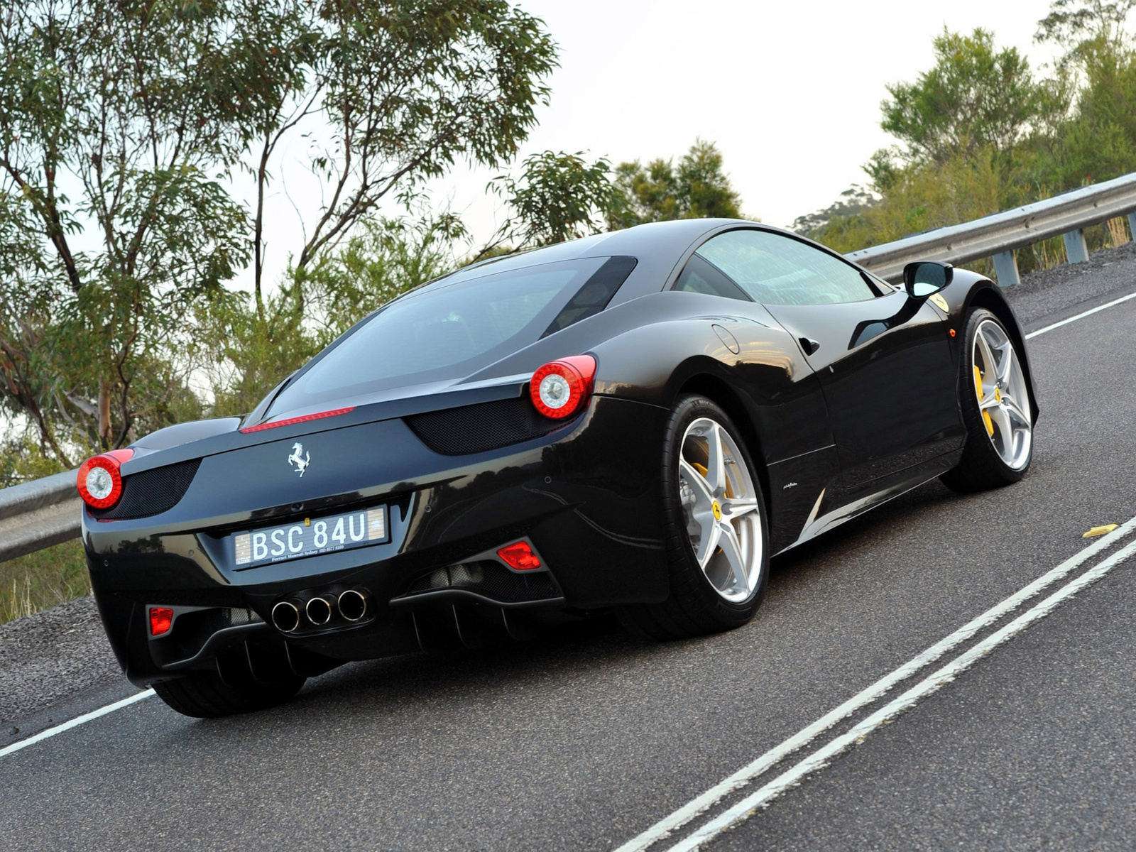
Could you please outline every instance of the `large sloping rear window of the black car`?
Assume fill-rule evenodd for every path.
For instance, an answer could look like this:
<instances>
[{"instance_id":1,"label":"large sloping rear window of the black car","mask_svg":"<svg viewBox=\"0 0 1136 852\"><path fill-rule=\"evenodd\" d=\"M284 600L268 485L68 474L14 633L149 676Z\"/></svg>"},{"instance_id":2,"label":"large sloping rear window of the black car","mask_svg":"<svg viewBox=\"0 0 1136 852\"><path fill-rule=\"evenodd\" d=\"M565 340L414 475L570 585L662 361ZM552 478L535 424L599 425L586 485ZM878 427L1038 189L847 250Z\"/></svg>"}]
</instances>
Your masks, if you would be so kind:
<instances>
[{"instance_id":1,"label":"large sloping rear window of the black car","mask_svg":"<svg viewBox=\"0 0 1136 852\"><path fill-rule=\"evenodd\" d=\"M266 416L468 376L603 310L635 259L579 258L500 273L493 266L389 302L310 361Z\"/></svg>"}]
</instances>

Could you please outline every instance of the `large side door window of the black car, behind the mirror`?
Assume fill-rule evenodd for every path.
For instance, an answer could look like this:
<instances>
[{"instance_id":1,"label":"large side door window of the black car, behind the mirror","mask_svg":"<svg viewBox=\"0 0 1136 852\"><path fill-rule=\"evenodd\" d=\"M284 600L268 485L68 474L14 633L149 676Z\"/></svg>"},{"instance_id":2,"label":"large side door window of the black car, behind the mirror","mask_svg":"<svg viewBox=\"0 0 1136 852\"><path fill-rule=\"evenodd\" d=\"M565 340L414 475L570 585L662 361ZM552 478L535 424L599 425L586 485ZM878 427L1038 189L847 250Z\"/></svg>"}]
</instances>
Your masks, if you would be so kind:
<instances>
[{"instance_id":1,"label":"large side door window of the black car, behind the mirror","mask_svg":"<svg viewBox=\"0 0 1136 852\"><path fill-rule=\"evenodd\" d=\"M834 304L876 296L854 266L768 231L727 231L703 243L695 257L766 304Z\"/></svg>"}]
</instances>

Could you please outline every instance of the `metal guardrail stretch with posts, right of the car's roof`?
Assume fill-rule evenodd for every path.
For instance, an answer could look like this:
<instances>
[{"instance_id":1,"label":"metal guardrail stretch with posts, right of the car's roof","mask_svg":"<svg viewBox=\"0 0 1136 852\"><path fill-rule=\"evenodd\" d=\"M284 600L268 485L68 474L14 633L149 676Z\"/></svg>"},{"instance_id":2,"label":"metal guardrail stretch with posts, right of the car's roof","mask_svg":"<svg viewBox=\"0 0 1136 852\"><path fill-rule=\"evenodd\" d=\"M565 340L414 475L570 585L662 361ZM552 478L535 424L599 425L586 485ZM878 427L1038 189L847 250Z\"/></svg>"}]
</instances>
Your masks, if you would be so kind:
<instances>
[{"instance_id":1,"label":"metal guardrail stretch with posts, right of the car's roof","mask_svg":"<svg viewBox=\"0 0 1136 852\"><path fill-rule=\"evenodd\" d=\"M1083 186L962 225L872 245L844 257L891 282L899 281L904 265L912 260L964 264L993 257L999 285L1008 287L1021 282L1013 256L1016 249L1060 234L1064 237L1069 262L1084 262L1088 260L1085 228L1118 216L1128 216L1136 237L1136 174Z\"/></svg>"}]
</instances>

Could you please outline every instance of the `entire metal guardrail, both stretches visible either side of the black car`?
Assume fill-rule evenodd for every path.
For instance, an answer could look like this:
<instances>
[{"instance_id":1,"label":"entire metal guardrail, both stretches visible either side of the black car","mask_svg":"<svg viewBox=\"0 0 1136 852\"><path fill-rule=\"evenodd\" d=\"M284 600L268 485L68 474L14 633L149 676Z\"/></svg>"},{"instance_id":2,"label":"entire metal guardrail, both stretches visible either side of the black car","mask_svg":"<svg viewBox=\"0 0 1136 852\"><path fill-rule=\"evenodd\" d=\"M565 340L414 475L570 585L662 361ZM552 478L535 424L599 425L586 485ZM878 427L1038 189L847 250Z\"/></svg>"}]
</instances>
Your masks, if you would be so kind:
<instances>
[{"instance_id":1,"label":"entire metal guardrail, both stretches visible either side of the black car","mask_svg":"<svg viewBox=\"0 0 1136 852\"><path fill-rule=\"evenodd\" d=\"M1136 236L1136 174L845 257L893 282L912 260L964 264L993 257L999 284L1013 286L1020 282L1017 249L1060 234L1069 261L1083 262L1088 260L1084 229L1117 216L1128 217ZM0 490L0 561L77 537L81 506L74 470Z\"/></svg>"}]
</instances>

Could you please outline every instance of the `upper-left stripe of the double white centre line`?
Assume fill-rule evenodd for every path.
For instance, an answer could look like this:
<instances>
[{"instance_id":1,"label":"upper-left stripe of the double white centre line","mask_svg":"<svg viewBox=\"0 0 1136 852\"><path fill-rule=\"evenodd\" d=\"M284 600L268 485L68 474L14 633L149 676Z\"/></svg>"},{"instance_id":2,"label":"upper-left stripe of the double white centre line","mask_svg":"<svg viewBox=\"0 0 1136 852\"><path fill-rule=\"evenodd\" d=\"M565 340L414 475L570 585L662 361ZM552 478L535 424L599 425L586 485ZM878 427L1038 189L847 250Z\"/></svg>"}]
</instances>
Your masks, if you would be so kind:
<instances>
[{"instance_id":1,"label":"upper-left stripe of the double white centre line","mask_svg":"<svg viewBox=\"0 0 1136 852\"><path fill-rule=\"evenodd\" d=\"M1006 598L1001 603L995 604L991 609L983 612L977 618L968 621L962 627L957 629L950 636L936 642L934 645L928 648L922 653L912 657L905 663L900 666L894 671L885 675L879 680L868 686L862 692L857 693L851 699L845 701L843 704L837 707L835 710L826 713L821 718L817 719L815 722L805 728L802 728L796 734L791 736L788 740L784 741L779 745L775 745L772 749L767 751L760 758L754 760L749 766L742 767L736 772L730 775L728 778L724 778L715 786L710 787L705 793L700 796L692 799L690 802L684 804L682 808L676 810L674 813L655 822L653 826L648 828L642 834L633 837L623 846L620 846L616 852L643 852L650 846L654 845L659 841L669 836L675 829L690 822L692 819L698 817L703 811L717 804L719 801L725 799L727 795L733 793L741 787L744 787L751 780L762 775L769 768L778 763L780 760L785 759L792 754L797 749L808 745L812 740L815 740L820 734L828 730L830 727L836 725L841 719L851 716L857 710L860 710L868 704L872 703L882 695L891 691L893 686L899 684L901 680L905 680L913 674L922 668L926 668L930 663L935 662L938 658L945 654L947 651L957 648L959 644L966 642L971 636L974 636L978 630L987 627L1011 610L1017 609L1021 603L1029 600L1046 586L1052 585L1062 577L1067 576L1070 571L1075 570L1081 566L1087 560L1095 557L1101 551L1112 546L1116 542L1120 541L1124 536L1128 535L1133 529L1136 529L1136 517L1128 519L1120 527L1109 533L1103 538L1097 540L1093 544L1089 544L1084 550L1079 551L1075 556L1070 557L1056 568L1053 568L1046 574L1035 579L1029 585L1014 592L1012 595Z\"/></svg>"}]
</instances>

